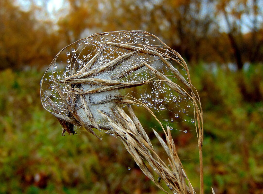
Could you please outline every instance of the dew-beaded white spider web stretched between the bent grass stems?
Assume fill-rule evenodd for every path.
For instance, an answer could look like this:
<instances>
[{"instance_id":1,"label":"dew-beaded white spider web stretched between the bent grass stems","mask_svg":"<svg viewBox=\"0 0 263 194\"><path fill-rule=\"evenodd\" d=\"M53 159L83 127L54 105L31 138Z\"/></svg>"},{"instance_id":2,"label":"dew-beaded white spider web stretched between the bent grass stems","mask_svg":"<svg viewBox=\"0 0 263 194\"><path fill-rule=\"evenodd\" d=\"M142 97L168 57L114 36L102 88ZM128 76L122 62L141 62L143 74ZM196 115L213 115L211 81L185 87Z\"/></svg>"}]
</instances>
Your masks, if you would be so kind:
<instances>
[{"instance_id":1,"label":"dew-beaded white spider web stretched between the bent grass stems","mask_svg":"<svg viewBox=\"0 0 263 194\"><path fill-rule=\"evenodd\" d=\"M127 47L132 46L139 47L144 52L135 52L132 49L127 49ZM100 116L97 110L105 112L114 120L115 114L111 110L112 106L116 105L114 100L124 98L135 102L139 101L141 105L134 105L134 109L138 112L140 112L139 109L145 110L146 107L148 107L163 125L168 124L170 129L187 132L188 130L181 130L178 123L184 122L195 125L194 103L189 97L192 94L189 89L178 80L176 75L171 72L170 68L167 67L161 58L152 54L154 50L163 53L167 61L175 67L186 81L188 80L187 72L181 65L182 61L177 53L153 35L138 31L95 34L65 47L55 57L42 79L41 99L43 106L50 112L67 117L69 114L67 106L63 99L61 99L56 85L58 85L59 89L68 97L72 84L66 83L66 79L74 76L74 74L84 74L87 71L95 71L105 66L105 64L127 55L129 56L128 58L120 60L114 67L89 77L130 84L146 82L147 80L150 80L150 82L137 87L118 88L110 91L85 94L85 100L88 102L88 106L97 124L99 126L107 126L107 122ZM96 58L95 62L93 62L92 66L88 69L87 65L94 60L94 58ZM142 66L141 64L143 62L149 64L158 72L168 77L172 82L178 84L185 91L185 94L188 93L188 95L179 94L170 88L166 82L156 77L148 67ZM79 85L79 89L82 91L101 87L103 86L92 85L90 83L82 83ZM80 97L77 96L74 102L70 100L71 99L69 99L69 103L75 103L75 111L84 120L89 120L80 103ZM127 106L125 104L117 105L123 108ZM156 124L158 123L156 122ZM154 127L154 123L150 125L153 126L145 127Z\"/></svg>"}]
</instances>

